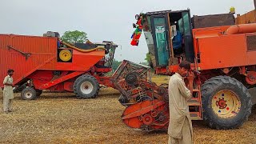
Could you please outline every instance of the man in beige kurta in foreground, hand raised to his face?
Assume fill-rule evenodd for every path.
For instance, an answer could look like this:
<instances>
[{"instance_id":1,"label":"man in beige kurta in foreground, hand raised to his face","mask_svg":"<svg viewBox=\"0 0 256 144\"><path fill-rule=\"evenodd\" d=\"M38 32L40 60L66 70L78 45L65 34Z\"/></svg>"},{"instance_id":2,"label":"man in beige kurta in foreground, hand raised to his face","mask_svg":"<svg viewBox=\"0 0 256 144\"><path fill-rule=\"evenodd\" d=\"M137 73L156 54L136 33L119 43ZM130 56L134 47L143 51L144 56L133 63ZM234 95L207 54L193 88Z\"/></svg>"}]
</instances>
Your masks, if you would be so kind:
<instances>
[{"instance_id":1,"label":"man in beige kurta in foreground, hand raised to his face","mask_svg":"<svg viewBox=\"0 0 256 144\"><path fill-rule=\"evenodd\" d=\"M188 74L190 90L183 80ZM168 128L169 144L191 144L193 140L192 122L187 100L192 98L194 73L190 72L190 62L179 64L178 71L169 81L170 123Z\"/></svg>"}]
</instances>

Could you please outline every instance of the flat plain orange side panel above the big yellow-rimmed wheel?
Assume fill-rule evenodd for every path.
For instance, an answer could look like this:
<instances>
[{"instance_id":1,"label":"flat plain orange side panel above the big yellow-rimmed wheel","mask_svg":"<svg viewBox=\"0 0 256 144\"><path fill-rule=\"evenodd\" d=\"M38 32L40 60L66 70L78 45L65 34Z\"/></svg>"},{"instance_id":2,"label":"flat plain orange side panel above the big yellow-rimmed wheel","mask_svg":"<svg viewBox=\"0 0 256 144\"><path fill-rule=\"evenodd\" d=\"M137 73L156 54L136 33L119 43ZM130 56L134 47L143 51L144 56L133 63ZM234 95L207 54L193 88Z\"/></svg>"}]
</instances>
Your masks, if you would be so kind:
<instances>
[{"instance_id":1,"label":"flat plain orange side panel above the big yellow-rimmed wheel","mask_svg":"<svg viewBox=\"0 0 256 144\"><path fill-rule=\"evenodd\" d=\"M198 38L198 44L201 70L246 66L249 64L247 62L245 34Z\"/></svg>"}]
</instances>

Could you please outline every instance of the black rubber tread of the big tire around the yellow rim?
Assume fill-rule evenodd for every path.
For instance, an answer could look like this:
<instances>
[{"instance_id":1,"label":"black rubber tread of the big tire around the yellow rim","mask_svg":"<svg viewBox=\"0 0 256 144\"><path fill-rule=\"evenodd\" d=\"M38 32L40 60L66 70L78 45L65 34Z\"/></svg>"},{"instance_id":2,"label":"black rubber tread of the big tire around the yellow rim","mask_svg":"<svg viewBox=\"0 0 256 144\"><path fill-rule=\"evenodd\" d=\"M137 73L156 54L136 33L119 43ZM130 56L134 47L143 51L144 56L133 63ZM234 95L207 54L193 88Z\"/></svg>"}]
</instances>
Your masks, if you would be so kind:
<instances>
[{"instance_id":1,"label":"black rubber tread of the big tire around the yellow rim","mask_svg":"<svg viewBox=\"0 0 256 144\"><path fill-rule=\"evenodd\" d=\"M236 86L239 90L242 90L242 94L244 94L242 98L245 99L245 101L243 102L243 105L246 105L246 106L245 106L245 110L242 112L242 113L245 113L244 117L238 118L238 120L234 121L233 123L223 122L221 121L221 119L218 119L218 121L216 122L214 121L214 118L212 118L213 115L210 115L209 113L209 110L211 110L210 102L211 102L211 98L213 97L212 94L214 93L214 90L217 90L219 86L223 86L226 84ZM207 80L202 85L201 91L202 91L203 118L205 122L208 124L208 126L210 126L211 128L218 129L218 130L234 129L234 128L237 128L238 126L241 126L243 122L248 120L248 117L251 114L252 102L250 99L250 94L246 89L246 87L243 86L242 82L239 82L235 78L230 78L228 76L217 76Z\"/></svg>"}]
</instances>

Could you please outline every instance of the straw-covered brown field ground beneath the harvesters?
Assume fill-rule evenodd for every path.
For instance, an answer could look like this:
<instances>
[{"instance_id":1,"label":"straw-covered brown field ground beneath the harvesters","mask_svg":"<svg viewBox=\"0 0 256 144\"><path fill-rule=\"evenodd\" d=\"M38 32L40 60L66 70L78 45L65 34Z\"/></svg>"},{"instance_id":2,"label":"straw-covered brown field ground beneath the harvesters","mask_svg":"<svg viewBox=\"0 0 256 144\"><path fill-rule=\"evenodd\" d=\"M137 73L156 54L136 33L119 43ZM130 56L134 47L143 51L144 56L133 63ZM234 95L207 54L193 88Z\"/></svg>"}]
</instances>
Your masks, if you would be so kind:
<instances>
[{"instance_id":1,"label":"straw-covered brown field ground beneath the harvesters","mask_svg":"<svg viewBox=\"0 0 256 144\"><path fill-rule=\"evenodd\" d=\"M166 82L167 78L153 78ZM43 93L34 101L15 94L14 112L0 110L0 143L166 143L166 131L142 132L127 127L119 93L102 89L98 98L77 99L74 94ZM2 91L0 91L2 107ZM195 143L256 143L256 106L249 121L237 130L211 130L193 122Z\"/></svg>"}]
</instances>

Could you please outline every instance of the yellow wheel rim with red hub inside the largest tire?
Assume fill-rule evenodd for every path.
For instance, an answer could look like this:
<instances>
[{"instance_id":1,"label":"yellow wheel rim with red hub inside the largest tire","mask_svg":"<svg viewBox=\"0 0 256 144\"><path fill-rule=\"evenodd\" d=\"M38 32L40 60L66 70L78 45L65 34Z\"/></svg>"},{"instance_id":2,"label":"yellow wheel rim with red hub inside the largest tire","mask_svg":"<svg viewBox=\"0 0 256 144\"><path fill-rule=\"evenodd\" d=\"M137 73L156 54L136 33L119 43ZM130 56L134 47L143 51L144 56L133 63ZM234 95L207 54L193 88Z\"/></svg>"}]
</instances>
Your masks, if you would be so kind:
<instances>
[{"instance_id":1,"label":"yellow wheel rim with red hub inside the largest tire","mask_svg":"<svg viewBox=\"0 0 256 144\"><path fill-rule=\"evenodd\" d=\"M220 118L233 118L241 108L238 95L231 90L221 90L212 98L212 109Z\"/></svg>"}]
</instances>

